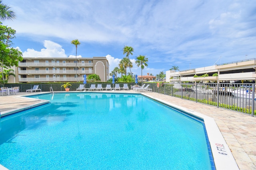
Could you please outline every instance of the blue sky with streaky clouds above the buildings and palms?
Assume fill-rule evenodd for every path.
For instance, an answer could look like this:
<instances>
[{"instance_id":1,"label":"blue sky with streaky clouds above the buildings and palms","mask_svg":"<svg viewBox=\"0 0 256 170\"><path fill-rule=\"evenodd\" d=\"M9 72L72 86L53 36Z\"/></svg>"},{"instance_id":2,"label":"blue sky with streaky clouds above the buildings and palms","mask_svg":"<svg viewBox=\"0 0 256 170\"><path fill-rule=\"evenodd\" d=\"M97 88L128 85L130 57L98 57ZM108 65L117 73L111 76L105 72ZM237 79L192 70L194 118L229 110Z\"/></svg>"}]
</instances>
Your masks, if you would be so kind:
<instances>
[{"instance_id":1,"label":"blue sky with streaky clouds above the buildings and palms","mask_svg":"<svg viewBox=\"0 0 256 170\"><path fill-rule=\"evenodd\" d=\"M256 0L3 0L16 13L4 21L16 30L24 57L106 56L110 71L148 58L143 74L172 66L188 70L256 58ZM247 55L247 56L246 56ZM140 75L133 64L132 72Z\"/></svg>"}]
</instances>

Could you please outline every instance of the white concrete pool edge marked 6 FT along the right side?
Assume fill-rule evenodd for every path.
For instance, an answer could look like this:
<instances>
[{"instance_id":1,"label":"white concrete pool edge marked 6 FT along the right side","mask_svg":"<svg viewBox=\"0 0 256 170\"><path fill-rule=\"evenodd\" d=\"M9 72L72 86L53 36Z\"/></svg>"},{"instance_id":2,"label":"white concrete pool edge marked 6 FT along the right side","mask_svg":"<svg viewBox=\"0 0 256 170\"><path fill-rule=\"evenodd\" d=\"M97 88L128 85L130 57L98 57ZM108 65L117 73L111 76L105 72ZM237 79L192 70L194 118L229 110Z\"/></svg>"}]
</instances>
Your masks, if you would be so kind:
<instances>
[{"instance_id":1,"label":"white concrete pool edge marked 6 FT along the right side","mask_svg":"<svg viewBox=\"0 0 256 170\"><path fill-rule=\"evenodd\" d=\"M158 98L154 98L145 93L141 93L141 94L153 100L162 102L168 106L172 106L174 108L177 108L189 114L192 114L196 117L204 119L204 124L206 127L216 169L217 170L226 170L226 169L239 170L236 160L234 159L234 156L230 148L228 147L224 137L222 136L222 133L220 132L220 129L218 128L218 125L216 124L215 120L212 117L206 116L202 113L192 111L185 107L181 107L181 106L166 102Z\"/></svg>"}]
</instances>

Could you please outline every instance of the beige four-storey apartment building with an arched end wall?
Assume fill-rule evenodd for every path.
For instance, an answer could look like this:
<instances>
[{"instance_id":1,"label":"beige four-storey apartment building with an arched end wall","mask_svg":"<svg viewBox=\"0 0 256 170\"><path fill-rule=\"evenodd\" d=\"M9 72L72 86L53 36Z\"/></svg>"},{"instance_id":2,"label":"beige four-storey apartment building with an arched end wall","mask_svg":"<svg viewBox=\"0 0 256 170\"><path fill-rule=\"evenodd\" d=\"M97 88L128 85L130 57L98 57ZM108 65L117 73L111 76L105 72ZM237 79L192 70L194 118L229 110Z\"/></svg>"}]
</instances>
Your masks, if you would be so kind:
<instances>
[{"instance_id":1,"label":"beige four-storey apartment building with an arched end wall","mask_svg":"<svg viewBox=\"0 0 256 170\"><path fill-rule=\"evenodd\" d=\"M23 57L14 67L16 77L9 83L28 82L83 82L84 74L98 74L101 82L109 78L106 57L92 58L31 58Z\"/></svg>"}]
</instances>

